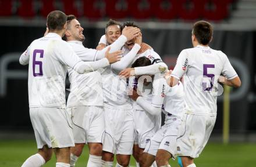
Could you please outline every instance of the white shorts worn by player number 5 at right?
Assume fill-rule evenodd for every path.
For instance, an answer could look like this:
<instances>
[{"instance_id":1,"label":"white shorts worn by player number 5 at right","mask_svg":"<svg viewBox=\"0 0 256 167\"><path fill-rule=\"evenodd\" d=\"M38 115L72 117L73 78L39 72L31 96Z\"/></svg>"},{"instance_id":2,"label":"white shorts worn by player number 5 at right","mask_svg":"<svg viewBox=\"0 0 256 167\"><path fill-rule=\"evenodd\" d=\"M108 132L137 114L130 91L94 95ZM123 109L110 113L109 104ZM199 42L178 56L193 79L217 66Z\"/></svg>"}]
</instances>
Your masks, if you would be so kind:
<instances>
[{"instance_id":1,"label":"white shorts worn by player number 5 at right","mask_svg":"<svg viewBox=\"0 0 256 167\"><path fill-rule=\"evenodd\" d=\"M199 157L216 121L216 115L184 114L177 136L177 155Z\"/></svg>"}]
</instances>

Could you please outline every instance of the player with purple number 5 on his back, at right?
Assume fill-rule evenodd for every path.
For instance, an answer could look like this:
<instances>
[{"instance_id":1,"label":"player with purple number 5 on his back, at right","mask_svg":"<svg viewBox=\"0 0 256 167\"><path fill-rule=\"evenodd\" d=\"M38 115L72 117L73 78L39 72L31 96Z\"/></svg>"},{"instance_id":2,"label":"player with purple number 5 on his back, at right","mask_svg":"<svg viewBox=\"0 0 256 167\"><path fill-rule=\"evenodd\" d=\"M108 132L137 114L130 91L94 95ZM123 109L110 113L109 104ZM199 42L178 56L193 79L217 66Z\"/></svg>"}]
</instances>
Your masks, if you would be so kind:
<instances>
[{"instance_id":1,"label":"player with purple number 5 on his back, at right","mask_svg":"<svg viewBox=\"0 0 256 167\"><path fill-rule=\"evenodd\" d=\"M166 78L170 86L175 86L182 77L184 79L186 108L177 138L177 155L182 156L184 167L195 166L194 158L200 155L214 128L218 78L219 82L229 86L241 85L225 53L209 48L212 34L210 23L197 21L191 36L194 48L180 52L172 74ZM221 74L224 77L219 77Z\"/></svg>"}]
</instances>

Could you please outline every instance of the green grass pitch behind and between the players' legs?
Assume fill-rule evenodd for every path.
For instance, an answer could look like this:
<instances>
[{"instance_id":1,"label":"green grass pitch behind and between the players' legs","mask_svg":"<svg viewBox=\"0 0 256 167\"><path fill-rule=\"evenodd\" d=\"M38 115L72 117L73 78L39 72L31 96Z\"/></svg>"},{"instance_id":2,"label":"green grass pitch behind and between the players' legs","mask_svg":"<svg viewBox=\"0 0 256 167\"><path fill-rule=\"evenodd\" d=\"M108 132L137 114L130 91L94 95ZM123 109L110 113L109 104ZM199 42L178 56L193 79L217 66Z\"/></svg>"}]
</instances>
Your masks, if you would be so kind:
<instances>
[{"instance_id":1,"label":"green grass pitch behind and between the players' legs","mask_svg":"<svg viewBox=\"0 0 256 167\"><path fill-rule=\"evenodd\" d=\"M34 140L0 140L0 166L17 167L30 155L37 151ZM195 159L197 166L211 167L239 167L255 166L256 143L208 143L199 158ZM88 147L76 163L77 167L86 166ZM44 166L55 166L55 156ZM172 167L177 167L177 161L170 160ZM135 166L131 158L130 166Z\"/></svg>"}]
</instances>

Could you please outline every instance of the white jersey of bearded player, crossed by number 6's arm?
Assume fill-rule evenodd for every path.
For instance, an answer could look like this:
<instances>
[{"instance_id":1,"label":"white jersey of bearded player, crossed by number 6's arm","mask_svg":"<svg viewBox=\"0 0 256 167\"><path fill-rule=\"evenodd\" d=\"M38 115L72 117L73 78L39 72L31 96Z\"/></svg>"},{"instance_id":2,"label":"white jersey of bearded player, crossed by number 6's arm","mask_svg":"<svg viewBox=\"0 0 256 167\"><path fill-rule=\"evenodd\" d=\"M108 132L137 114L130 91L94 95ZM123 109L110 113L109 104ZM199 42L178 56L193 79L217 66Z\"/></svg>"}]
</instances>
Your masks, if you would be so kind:
<instances>
[{"instance_id":1,"label":"white jersey of bearded player, crossed by number 6's arm","mask_svg":"<svg viewBox=\"0 0 256 167\"><path fill-rule=\"evenodd\" d=\"M88 49L80 41L68 41L74 52L83 61L94 61L96 49ZM70 81L70 93L67 107L103 106L101 74L98 71L79 74L72 68L67 68Z\"/></svg>"}]
</instances>

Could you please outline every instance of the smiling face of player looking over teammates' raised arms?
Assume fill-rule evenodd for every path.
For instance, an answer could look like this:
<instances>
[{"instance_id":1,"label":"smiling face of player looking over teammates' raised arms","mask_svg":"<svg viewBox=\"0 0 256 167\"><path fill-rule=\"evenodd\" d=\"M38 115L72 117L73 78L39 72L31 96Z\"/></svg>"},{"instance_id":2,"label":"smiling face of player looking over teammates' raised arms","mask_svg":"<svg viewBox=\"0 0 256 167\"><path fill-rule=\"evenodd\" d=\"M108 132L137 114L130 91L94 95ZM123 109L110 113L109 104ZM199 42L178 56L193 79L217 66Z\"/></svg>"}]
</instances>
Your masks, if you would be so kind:
<instances>
[{"instance_id":1,"label":"smiling face of player looking over teammates' raised arms","mask_svg":"<svg viewBox=\"0 0 256 167\"><path fill-rule=\"evenodd\" d=\"M115 24L115 25L108 26L108 28L106 28L106 41L109 44L112 44L113 42L115 42L116 39L120 37L120 35L121 35L120 26Z\"/></svg>"}]
</instances>

